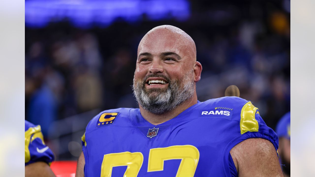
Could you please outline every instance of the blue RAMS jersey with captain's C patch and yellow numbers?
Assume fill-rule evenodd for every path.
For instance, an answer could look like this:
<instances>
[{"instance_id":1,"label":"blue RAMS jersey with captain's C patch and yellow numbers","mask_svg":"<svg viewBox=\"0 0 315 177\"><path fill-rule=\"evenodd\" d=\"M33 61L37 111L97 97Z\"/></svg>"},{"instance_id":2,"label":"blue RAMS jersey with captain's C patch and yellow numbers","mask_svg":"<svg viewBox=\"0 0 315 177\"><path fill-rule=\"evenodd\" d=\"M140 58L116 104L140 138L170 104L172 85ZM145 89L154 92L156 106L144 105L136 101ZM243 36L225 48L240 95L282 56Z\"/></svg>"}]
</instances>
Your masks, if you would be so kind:
<instances>
[{"instance_id":1,"label":"blue RAMS jersey with captain's C patch and yellow numbers","mask_svg":"<svg viewBox=\"0 0 315 177\"><path fill-rule=\"evenodd\" d=\"M237 176L230 150L263 138L278 149L278 137L258 109L238 97L198 102L173 119L153 125L139 109L106 110L82 137L86 177Z\"/></svg>"}]
</instances>

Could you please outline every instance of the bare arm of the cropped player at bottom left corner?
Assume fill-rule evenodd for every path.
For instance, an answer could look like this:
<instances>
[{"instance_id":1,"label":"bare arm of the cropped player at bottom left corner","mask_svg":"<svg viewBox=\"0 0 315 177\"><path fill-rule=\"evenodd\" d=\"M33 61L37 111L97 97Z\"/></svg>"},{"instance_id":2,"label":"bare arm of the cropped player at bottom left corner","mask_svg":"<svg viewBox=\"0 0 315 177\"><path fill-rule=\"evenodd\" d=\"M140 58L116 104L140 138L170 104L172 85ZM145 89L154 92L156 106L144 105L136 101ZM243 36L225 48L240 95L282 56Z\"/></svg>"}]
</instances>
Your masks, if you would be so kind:
<instances>
[{"instance_id":1,"label":"bare arm of the cropped player at bottom left corner","mask_svg":"<svg viewBox=\"0 0 315 177\"><path fill-rule=\"evenodd\" d=\"M55 174L47 163L35 162L25 166L25 177L55 177Z\"/></svg>"}]
</instances>

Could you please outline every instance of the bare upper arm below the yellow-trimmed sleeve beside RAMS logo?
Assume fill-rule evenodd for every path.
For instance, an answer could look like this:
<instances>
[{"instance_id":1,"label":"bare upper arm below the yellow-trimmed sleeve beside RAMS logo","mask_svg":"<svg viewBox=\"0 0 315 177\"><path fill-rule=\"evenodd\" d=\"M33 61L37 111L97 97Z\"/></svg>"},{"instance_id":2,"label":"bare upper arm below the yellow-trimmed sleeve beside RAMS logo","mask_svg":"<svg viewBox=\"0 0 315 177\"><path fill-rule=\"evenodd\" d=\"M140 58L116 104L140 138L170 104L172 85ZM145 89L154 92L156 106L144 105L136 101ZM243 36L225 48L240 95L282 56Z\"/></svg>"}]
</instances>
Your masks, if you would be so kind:
<instances>
[{"instance_id":1,"label":"bare upper arm below the yellow-trimmed sleeve beside RAMS logo","mask_svg":"<svg viewBox=\"0 0 315 177\"><path fill-rule=\"evenodd\" d=\"M268 140L244 140L230 153L239 177L283 177L277 152Z\"/></svg>"}]
</instances>

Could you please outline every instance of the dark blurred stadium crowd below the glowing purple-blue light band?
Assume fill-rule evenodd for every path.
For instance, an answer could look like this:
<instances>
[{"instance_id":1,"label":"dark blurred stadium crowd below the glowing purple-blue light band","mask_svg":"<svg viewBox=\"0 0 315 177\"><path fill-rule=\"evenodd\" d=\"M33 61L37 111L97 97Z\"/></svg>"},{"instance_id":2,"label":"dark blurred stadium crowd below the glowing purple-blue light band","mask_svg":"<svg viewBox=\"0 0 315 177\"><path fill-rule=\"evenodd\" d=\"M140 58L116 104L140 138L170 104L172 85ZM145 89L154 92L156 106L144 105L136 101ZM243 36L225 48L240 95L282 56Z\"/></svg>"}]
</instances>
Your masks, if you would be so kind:
<instances>
[{"instance_id":1,"label":"dark blurred stadium crowd below the glowing purple-blue light band","mask_svg":"<svg viewBox=\"0 0 315 177\"><path fill-rule=\"evenodd\" d=\"M203 66L200 101L224 96L229 85L251 100L271 128L290 110L290 14L285 1L192 2L186 21L164 19L106 28L51 22L25 29L26 120L49 125L86 111L138 107L131 85L137 47L147 31L173 25L196 43ZM86 117L91 119L92 117Z\"/></svg>"}]
</instances>

